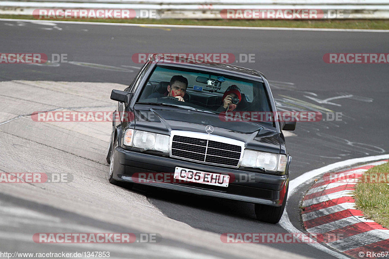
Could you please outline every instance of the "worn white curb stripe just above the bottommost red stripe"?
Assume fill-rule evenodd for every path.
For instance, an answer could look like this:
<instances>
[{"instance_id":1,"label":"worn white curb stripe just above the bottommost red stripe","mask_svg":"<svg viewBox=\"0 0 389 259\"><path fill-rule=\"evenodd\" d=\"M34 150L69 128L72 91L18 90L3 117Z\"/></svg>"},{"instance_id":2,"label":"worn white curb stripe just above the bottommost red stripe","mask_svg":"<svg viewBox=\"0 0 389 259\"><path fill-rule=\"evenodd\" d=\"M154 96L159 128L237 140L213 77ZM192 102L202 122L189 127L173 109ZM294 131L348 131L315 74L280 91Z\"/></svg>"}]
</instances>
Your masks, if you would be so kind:
<instances>
[{"instance_id":1,"label":"worn white curb stripe just above the bottommost red stripe","mask_svg":"<svg viewBox=\"0 0 389 259\"><path fill-rule=\"evenodd\" d=\"M389 230L373 229L327 244L341 252L344 252L364 245L380 242L386 239L389 239Z\"/></svg>"}]
</instances>

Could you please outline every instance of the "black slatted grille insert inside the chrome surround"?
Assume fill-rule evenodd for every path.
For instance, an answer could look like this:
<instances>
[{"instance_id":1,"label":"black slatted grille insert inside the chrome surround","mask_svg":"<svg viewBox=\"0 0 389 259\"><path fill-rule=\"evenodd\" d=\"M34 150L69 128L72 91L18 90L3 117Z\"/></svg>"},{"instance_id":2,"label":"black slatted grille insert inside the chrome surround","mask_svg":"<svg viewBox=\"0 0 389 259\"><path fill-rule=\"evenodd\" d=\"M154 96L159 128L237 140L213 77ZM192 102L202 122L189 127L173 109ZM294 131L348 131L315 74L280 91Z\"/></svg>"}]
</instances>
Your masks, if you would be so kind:
<instances>
[{"instance_id":1,"label":"black slatted grille insert inside the chrome surround","mask_svg":"<svg viewBox=\"0 0 389 259\"><path fill-rule=\"evenodd\" d=\"M172 156L209 164L237 167L241 153L241 146L214 140L179 135L172 140Z\"/></svg>"}]
</instances>

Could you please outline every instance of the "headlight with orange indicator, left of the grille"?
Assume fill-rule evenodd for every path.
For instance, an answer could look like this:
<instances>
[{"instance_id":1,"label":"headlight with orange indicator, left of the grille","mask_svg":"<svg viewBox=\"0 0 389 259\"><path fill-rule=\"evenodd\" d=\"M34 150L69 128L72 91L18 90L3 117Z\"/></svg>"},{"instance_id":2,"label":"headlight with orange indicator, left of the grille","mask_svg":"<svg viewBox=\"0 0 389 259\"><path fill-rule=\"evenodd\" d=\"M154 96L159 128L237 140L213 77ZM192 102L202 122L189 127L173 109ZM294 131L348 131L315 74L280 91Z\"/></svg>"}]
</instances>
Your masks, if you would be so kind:
<instances>
[{"instance_id":1,"label":"headlight with orange indicator, left of the grille","mask_svg":"<svg viewBox=\"0 0 389 259\"><path fill-rule=\"evenodd\" d=\"M143 150L156 150L169 152L170 136L142 130L127 129L124 134L123 144L129 147Z\"/></svg>"}]
</instances>

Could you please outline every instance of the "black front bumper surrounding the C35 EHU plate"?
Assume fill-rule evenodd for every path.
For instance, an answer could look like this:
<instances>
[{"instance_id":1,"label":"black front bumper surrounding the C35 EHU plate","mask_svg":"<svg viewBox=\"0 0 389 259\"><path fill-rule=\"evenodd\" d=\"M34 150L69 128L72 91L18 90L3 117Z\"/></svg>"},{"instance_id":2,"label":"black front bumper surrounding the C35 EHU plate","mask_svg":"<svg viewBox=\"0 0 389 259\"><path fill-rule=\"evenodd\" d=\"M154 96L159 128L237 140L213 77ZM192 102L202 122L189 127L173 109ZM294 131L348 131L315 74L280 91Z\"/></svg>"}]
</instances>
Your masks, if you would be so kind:
<instances>
[{"instance_id":1,"label":"black front bumper surrounding the C35 EHU plate","mask_svg":"<svg viewBox=\"0 0 389 259\"><path fill-rule=\"evenodd\" d=\"M117 157L119 159L115 159L115 161L119 162L116 162L114 165L115 170L113 172L113 178L117 181L141 183L139 180L133 179L132 176L134 173L172 174L175 172L177 166L202 172L225 173L230 176L232 175L228 187L215 187L197 183L182 184L156 181L141 184L272 206L282 205L285 190L287 190L287 185L289 183L287 174L273 175L253 173L239 169L202 165L185 160L173 159L167 156L129 151L122 147L117 147L116 151L118 152ZM234 180L231 181L232 179Z\"/></svg>"}]
</instances>

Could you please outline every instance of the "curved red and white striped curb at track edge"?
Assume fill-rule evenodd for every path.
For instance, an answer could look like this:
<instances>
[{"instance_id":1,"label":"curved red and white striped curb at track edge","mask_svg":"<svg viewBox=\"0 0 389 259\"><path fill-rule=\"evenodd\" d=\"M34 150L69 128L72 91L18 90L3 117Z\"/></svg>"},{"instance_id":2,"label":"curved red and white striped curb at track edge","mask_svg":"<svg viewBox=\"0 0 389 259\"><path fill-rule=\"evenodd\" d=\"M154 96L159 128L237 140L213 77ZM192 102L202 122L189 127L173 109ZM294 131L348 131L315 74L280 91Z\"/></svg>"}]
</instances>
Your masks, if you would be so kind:
<instances>
[{"instance_id":1,"label":"curved red and white striped curb at track edge","mask_svg":"<svg viewBox=\"0 0 389 259\"><path fill-rule=\"evenodd\" d=\"M353 198L357 179L387 161L332 173L330 178L316 182L302 202L301 217L307 232L317 234L319 242L355 258L380 258L382 254L374 253L389 251L389 229L365 219ZM336 238L326 239L329 236ZM383 258L386 257L389 255L384 254Z\"/></svg>"}]
</instances>

